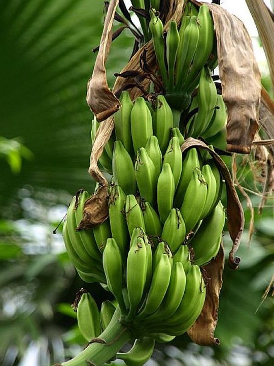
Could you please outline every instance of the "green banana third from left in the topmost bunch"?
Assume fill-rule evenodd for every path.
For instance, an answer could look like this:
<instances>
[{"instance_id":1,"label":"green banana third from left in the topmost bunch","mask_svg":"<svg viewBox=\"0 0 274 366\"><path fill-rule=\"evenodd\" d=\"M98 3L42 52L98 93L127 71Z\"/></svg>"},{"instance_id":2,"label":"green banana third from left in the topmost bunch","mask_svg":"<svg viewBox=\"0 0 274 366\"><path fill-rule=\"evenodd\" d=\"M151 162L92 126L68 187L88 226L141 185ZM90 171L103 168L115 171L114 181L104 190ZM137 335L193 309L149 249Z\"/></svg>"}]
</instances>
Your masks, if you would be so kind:
<instances>
[{"instance_id":1,"label":"green banana third from left in the topmost bunch","mask_svg":"<svg viewBox=\"0 0 274 366\"><path fill-rule=\"evenodd\" d=\"M186 92L187 87L185 85L187 75L190 72L193 59L196 54L196 50L199 41L199 27L198 18L193 15L190 17L189 23L185 28L183 34L183 44L180 51L178 51L177 57L177 73L175 89L181 92Z\"/></svg>"}]
</instances>

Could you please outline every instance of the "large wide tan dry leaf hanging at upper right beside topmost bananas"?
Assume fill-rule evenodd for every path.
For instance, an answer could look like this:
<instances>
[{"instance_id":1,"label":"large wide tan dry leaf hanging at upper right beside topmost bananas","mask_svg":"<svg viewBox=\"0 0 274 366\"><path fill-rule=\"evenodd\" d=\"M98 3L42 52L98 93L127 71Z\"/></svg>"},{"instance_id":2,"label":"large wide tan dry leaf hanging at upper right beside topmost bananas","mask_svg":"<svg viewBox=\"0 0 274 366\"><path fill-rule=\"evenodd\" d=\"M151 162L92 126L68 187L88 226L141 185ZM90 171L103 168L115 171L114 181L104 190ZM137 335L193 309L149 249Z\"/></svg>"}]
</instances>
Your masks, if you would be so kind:
<instances>
[{"instance_id":1,"label":"large wide tan dry leaf hanging at upper right beside topmost bananas","mask_svg":"<svg viewBox=\"0 0 274 366\"><path fill-rule=\"evenodd\" d=\"M228 109L227 150L249 154L259 128L261 75L245 25L216 4L214 20L220 80Z\"/></svg>"}]
</instances>

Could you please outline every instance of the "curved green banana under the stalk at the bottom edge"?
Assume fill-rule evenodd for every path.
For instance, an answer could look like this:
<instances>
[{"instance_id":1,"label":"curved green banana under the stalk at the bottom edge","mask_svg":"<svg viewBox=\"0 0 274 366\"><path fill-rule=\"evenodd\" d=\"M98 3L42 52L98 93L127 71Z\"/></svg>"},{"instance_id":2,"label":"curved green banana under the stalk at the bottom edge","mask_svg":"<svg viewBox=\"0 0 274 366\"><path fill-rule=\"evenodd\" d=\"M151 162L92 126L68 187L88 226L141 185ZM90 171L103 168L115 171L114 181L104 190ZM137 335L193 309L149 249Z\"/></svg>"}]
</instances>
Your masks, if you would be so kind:
<instances>
[{"instance_id":1,"label":"curved green banana under the stalk at the bottom edge","mask_svg":"<svg viewBox=\"0 0 274 366\"><path fill-rule=\"evenodd\" d=\"M154 338L136 339L133 347L128 352L118 352L116 358L122 359L127 366L143 366L150 359L154 346Z\"/></svg>"}]
</instances>

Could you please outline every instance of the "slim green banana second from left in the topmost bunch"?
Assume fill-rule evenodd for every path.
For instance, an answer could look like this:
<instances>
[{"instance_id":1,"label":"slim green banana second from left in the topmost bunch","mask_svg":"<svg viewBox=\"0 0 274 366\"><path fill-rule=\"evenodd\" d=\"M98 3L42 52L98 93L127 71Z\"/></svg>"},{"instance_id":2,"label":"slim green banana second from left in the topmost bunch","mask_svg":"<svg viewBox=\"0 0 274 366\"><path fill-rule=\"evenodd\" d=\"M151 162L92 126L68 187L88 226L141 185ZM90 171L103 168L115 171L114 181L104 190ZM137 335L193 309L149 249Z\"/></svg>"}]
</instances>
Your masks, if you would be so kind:
<instances>
[{"instance_id":1,"label":"slim green banana second from left in the topmost bunch","mask_svg":"<svg viewBox=\"0 0 274 366\"><path fill-rule=\"evenodd\" d=\"M168 89L173 90L174 88L174 72L177 51L180 42L180 35L177 29L176 20L170 20L169 29L166 35L166 59L168 68Z\"/></svg>"}]
</instances>

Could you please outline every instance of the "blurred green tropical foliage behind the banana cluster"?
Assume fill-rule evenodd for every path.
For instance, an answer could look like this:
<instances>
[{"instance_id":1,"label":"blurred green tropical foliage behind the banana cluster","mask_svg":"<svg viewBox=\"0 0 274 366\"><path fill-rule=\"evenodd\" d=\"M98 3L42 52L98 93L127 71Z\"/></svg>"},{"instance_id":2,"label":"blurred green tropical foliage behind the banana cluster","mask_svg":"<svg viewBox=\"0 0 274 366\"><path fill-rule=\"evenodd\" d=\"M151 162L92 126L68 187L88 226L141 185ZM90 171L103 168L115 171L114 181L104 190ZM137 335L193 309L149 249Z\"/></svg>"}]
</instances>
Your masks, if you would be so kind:
<instances>
[{"instance_id":1,"label":"blurred green tropical foliage behind the banana cluster","mask_svg":"<svg viewBox=\"0 0 274 366\"><path fill-rule=\"evenodd\" d=\"M49 366L84 345L70 304L79 288L98 301L111 298L83 283L64 251L60 228L72 195L92 192L87 173L90 121L86 83L103 22L102 0L1 0L0 2L0 364ZM116 23L116 27L119 24ZM131 54L125 30L108 59L109 84ZM265 86L271 85L265 77ZM252 191L254 164L237 157ZM229 163L229 161L228 161ZM253 162L254 163L254 162ZM258 184L258 189L260 189ZM272 365L274 304L273 200L262 215L255 207L255 233L248 244L250 211L243 199L246 232L237 271L226 267L221 292L217 348L187 335L159 344L153 365ZM228 252L231 241L224 237Z\"/></svg>"}]
</instances>

